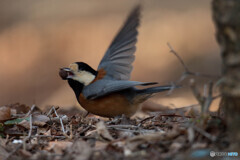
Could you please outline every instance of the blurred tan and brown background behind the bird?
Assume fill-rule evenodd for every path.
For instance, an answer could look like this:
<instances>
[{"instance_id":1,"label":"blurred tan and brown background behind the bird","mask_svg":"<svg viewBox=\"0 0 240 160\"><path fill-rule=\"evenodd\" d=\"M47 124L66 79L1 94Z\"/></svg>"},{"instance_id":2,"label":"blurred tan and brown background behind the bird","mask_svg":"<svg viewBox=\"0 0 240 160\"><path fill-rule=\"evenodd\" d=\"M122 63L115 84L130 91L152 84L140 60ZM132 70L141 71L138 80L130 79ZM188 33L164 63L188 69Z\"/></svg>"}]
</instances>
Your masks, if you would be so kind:
<instances>
[{"instance_id":1,"label":"blurred tan and brown background behind the bird","mask_svg":"<svg viewBox=\"0 0 240 160\"><path fill-rule=\"evenodd\" d=\"M220 75L209 0L147 0L142 11L131 80L169 84L184 71L167 42L196 72ZM138 1L0 1L0 105L79 106L60 67L83 61L97 68ZM197 78L200 88L209 79ZM185 87L153 101L174 107L196 104ZM216 109L217 103L212 106Z\"/></svg>"}]
</instances>

